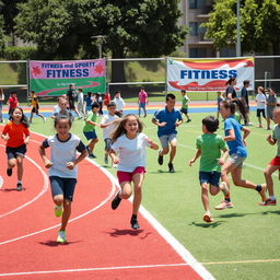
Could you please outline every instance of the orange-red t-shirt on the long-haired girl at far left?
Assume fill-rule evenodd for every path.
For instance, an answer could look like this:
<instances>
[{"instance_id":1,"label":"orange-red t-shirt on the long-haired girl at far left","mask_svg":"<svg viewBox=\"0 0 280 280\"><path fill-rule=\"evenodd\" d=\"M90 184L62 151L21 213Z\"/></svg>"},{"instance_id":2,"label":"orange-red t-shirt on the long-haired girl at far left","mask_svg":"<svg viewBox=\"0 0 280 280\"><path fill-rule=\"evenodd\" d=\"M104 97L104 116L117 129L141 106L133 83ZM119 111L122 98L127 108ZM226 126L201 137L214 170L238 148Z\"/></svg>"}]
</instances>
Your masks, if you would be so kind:
<instances>
[{"instance_id":1,"label":"orange-red t-shirt on the long-haired girl at far left","mask_svg":"<svg viewBox=\"0 0 280 280\"><path fill-rule=\"evenodd\" d=\"M2 133L10 137L5 145L16 148L24 144L24 136L30 136L30 130L22 122L15 125L13 121L8 121Z\"/></svg>"}]
</instances>

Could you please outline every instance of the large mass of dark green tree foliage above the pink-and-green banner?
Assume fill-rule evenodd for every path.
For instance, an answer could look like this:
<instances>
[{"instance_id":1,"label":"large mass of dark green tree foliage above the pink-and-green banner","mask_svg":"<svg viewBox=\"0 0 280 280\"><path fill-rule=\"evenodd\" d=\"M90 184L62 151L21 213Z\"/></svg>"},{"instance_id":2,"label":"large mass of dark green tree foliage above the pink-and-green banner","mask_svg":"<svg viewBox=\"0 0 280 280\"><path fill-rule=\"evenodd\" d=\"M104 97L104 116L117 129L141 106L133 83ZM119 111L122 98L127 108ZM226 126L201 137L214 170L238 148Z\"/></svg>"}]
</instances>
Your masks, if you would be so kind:
<instances>
[{"instance_id":1,"label":"large mass of dark green tree foliage above the pink-and-green banner","mask_svg":"<svg viewBox=\"0 0 280 280\"><path fill-rule=\"evenodd\" d=\"M177 26L178 0L28 0L19 10L18 36L49 58L96 57L96 35L106 36L103 49L113 57L158 57L183 45L187 33Z\"/></svg>"}]
</instances>

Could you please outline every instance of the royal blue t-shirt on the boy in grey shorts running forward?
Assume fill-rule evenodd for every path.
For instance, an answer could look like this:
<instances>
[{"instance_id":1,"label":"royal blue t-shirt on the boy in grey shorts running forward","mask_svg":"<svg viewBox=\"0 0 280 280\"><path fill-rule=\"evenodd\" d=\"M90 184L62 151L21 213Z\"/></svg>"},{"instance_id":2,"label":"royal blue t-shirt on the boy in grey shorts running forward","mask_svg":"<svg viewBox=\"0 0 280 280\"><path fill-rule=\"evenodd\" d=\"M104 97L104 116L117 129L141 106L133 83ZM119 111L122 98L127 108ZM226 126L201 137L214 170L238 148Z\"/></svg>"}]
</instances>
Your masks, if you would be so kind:
<instances>
[{"instance_id":1,"label":"royal blue t-shirt on the boy in grey shorts running forward","mask_svg":"<svg viewBox=\"0 0 280 280\"><path fill-rule=\"evenodd\" d=\"M155 112L153 118L155 118L160 124L167 122L164 127L158 127L158 136L161 137L177 133L175 122L177 120L182 120L182 115L176 108L170 112L167 107L165 107Z\"/></svg>"}]
</instances>

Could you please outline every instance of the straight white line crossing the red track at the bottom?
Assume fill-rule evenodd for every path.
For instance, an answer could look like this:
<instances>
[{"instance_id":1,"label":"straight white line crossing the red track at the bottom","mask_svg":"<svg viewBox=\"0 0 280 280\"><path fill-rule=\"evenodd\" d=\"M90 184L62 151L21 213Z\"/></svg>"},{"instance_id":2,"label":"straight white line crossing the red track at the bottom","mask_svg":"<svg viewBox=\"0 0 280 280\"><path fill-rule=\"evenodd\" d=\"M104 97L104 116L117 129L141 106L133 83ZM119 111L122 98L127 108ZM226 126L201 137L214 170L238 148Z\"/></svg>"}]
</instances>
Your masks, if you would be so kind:
<instances>
[{"instance_id":1,"label":"straight white line crossing the red track at the bottom","mask_svg":"<svg viewBox=\"0 0 280 280\"><path fill-rule=\"evenodd\" d=\"M124 270L124 269L144 269L144 268L162 268L162 267L187 267L187 266L189 265L184 262L184 264L170 264L170 265L147 265L147 266L125 266L125 267L92 267L92 268L77 268L77 269L62 269L62 270L0 273L0 277L51 275L51 273L66 273L66 272L88 272L88 271L104 271L104 270Z\"/></svg>"}]
</instances>

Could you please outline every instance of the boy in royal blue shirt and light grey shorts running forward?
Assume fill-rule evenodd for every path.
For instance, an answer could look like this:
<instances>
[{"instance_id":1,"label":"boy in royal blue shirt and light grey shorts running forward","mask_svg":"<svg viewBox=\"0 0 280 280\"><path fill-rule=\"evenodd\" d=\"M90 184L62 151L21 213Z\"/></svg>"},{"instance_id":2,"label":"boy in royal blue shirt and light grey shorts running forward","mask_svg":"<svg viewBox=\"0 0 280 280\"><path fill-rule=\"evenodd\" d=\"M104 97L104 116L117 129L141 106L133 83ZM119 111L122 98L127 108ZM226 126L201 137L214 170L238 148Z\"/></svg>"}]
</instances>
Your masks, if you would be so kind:
<instances>
[{"instance_id":1,"label":"boy in royal blue shirt and light grey shorts running forward","mask_svg":"<svg viewBox=\"0 0 280 280\"><path fill-rule=\"evenodd\" d=\"M165 98L166 106L155 112L152 122L158 126L158 137L162 144L162 151L159 152L158 162L163 164L163 156L170 153L168 171L174 173L173 160L176 154L176 127L182 125L183 118L178 109L175 108L175 95L168 93ZM170 152L171 145L171 152Z\"/></svg>"}]
</instances>

